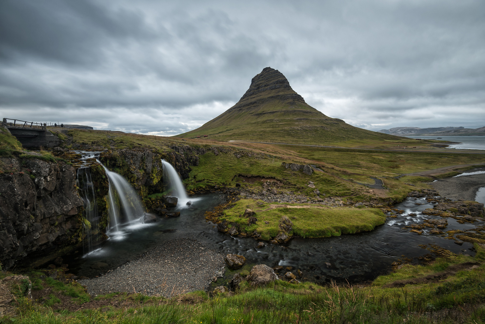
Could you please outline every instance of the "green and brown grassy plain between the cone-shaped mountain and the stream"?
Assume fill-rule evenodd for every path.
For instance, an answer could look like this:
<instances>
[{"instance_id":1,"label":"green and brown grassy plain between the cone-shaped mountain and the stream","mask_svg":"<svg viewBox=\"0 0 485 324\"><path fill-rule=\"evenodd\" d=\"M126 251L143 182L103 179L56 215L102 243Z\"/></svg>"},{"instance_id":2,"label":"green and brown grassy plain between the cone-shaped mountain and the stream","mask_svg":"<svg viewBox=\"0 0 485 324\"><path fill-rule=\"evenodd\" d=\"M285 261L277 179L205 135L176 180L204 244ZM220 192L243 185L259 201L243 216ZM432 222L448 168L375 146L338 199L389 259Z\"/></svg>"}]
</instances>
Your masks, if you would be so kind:
<instances>
[{"instance_id":1,"label":"green and brown grassy plain between the cone-shaped mountain and the stream","mask_svg":"<svg viewBox=\"0 0 485 324\"><path fill-rule=\"evenodd\" d=\"M443 149L429 147L433 141L418 140L387 140L387 139L354 139L335 142L341 146L372 147L390 149L389 151L368 151L344 148L328 148L314 146L267 145L259 143L227 143L208 139L167 138L145 136L121 132L98 130L69 130L73 143L105 148L155 149L166 152L170 146L190 145L194 147L222 147L219 155L208 151L199 156L199 165L192 167L190 177L184 179L189 191L210 189L214 187L234 187L242 183L247 188L260 189L262 182L256 184L244 183L242 177L274 178L283 186L282 192L315 196L313 190L307 187L308 181L313 181L322 194L326 196L356 197L356 199L390 198L394 201L404 199L412 190L429 188L423 183L431 181L426 177L394 177L435 169L442 166L484 163L485 154L458 154L453 151L442 152ZM420 146L421 145L421 146ZM410 147L410 151L392 151L400 147ZM417 146L414 149L412 146ZM426 151L424 151L426 148ZM224 153L223 151L227 151ZM235 152L242 152L237 158ZM281 167L281 162L313 164L323 170L315 171L311 176L301 172ZM356 184L374 183L369 177L377 177L384 181L386 191L376 194L365 186ZM414 184L414 186L406 183Z\"/></svg>"}]
</instances>

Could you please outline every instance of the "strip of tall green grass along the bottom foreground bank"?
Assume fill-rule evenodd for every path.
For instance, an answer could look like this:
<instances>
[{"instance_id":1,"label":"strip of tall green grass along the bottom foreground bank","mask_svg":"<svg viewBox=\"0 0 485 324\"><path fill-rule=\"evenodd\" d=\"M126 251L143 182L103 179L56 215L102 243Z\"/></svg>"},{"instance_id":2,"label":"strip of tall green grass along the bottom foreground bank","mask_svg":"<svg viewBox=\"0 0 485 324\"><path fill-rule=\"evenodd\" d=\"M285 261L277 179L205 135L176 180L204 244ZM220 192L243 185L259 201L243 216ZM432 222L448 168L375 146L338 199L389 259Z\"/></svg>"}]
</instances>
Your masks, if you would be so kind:
<instances>
[{"instance_id":1,"label":"strip of tall green grass along the bottom foreground bank","mask_svg":"<svg viewBox=\"0 0 485 324\"><path fill-rule=\"evenodd\" d=\"M171 299L116 292L94 298L77 283L30 273L32 291L44 292L45 298L31 300L25 289L12 287L16 312L0 323L483 324L485 253L475 247L474 258L448 254L424 266L405 264L371 285L323 287L277 280L254 288L243 281L236 293L192 292ZM399 284L405 280L412 284Z\"/></svg>"}]
</instances>

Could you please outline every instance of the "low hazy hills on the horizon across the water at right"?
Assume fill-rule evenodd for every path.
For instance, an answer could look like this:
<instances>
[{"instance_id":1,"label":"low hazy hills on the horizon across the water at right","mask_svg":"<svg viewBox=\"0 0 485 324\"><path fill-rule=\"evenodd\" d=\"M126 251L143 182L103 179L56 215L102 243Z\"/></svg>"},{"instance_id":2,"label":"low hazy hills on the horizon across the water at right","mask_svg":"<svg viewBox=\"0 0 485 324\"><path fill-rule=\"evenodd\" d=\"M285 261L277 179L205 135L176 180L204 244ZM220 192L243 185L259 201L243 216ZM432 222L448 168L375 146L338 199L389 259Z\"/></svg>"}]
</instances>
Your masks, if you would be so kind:
<instances>
[{"instance_id":1,"label":"low hazy hills on the horizon across the water at right","mask_svg":"<svg viewBox=\"0 0 485 324\"><path fill-rule=\"evenodd\" d=\"M458 135L485 135L485 127L476 129L464 127L395 127L389 130L379 130L379 133L406 136L406 135L444 135L444 136L458 136Z\"/></svg>"}]
</instances>

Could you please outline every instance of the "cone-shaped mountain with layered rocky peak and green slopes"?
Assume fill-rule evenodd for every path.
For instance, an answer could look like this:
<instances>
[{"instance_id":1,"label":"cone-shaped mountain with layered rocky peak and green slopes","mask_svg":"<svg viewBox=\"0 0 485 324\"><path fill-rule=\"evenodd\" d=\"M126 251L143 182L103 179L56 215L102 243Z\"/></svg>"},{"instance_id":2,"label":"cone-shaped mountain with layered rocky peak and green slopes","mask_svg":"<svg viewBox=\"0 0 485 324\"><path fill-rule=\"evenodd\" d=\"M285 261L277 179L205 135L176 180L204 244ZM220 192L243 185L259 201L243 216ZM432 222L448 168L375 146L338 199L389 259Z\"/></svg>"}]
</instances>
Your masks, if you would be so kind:
<instances>
[{"instance_id":1,"label":"cone-shaped mountain with layered rocky peak and green slopes","mask_svg":"<svg viewBox=\"0 0 485 324\"><path fill-rule=\"evenodd\" d=\"M325 116L291 89L285 76L265 67L234 106L196 130L176 137L322 144L351 139L396 139Z\"/></svg>"}]
</instances>

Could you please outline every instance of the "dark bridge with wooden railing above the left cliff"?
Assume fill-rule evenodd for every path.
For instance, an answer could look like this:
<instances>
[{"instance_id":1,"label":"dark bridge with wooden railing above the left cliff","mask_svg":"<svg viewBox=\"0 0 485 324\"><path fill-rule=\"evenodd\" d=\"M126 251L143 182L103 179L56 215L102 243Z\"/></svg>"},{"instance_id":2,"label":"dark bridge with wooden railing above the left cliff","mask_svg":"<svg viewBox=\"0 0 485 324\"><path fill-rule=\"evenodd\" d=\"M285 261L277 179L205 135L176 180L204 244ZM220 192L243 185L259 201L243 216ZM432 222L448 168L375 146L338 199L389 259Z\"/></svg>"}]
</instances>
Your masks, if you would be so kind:
<instances>
[{"instance_id":1,"label":"dark bridge with wooden railing above the left cliff","mask_svg":"<svg viewBox=\"0 0 485 324\"><path fill-rule=\"evenodd\" d=\"M39 146L54 147L62 143L57 136L47 130L46 123L40 124L3 118L1 126L8 129L22 143L22 146L26 148L38 148Z\"/></svg>"}]
</instances>

